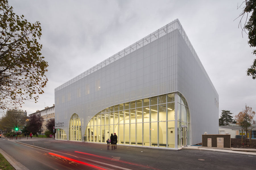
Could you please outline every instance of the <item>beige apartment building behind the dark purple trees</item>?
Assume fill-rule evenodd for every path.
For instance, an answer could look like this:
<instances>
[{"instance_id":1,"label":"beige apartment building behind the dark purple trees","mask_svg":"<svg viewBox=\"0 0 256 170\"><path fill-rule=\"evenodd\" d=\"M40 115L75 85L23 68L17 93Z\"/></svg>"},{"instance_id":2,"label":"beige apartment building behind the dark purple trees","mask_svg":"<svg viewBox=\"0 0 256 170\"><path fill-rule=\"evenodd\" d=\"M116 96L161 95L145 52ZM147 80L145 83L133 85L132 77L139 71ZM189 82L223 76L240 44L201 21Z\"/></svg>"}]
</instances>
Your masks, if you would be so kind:
<instances>
[{"instance_id":1,"label":"beige apartment building behind the dark purple trees","mask_svg":"<svg viewBox=\"0 0 256 170\"><path fill-rule=\"evenodd\" d=\"M43 110L37 110L36 112L32 113L32 114L29 114L29 116L32 116L33 114L39 114L40 116L42 116L44 118L44 121L43 121L43 126L42 126L42 133L44 133L47 128L46 128L46 122L47 120L51 119L51 118L54 118L54 113L55 113L55 109L54 109L54 104L52 107L45 107Z\"/></svg>"}]
</instances>

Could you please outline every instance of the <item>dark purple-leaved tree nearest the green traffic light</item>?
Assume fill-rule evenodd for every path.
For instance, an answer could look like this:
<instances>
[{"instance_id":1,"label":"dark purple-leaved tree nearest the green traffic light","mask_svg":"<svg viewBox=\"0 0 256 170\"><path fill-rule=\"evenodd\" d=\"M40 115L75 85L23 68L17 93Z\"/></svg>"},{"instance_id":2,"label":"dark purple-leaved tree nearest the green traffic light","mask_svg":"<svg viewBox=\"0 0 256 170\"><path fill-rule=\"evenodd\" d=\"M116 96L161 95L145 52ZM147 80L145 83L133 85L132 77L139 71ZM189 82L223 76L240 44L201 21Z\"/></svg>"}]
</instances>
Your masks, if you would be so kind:
<instances>
[{"instance_id":1,"label":"dark purple-leaved tree nearest the green traffic light","mask_svg":"<svg viewBox=\"0 0 256 170\"><path fill-rule=\"evenodd\" d=\"M37 133L42 132L42 125L43 125L44 119L40 114L33 114L29 117L27 129L29 132L32 132L33 135L37 135Z\"/></svg>"}]
</instances>

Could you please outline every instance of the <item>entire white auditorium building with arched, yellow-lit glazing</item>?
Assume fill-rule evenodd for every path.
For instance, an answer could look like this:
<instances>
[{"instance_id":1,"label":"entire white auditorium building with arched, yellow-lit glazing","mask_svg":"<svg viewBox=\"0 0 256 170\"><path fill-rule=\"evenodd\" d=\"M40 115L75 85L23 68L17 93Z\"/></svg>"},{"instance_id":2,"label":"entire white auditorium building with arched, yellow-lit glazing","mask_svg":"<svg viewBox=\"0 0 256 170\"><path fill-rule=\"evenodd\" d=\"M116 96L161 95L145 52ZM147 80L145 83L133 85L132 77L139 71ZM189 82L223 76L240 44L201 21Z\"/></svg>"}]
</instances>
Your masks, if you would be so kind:
<instances>
[{"instance_id":1,"label":"entire white auditorium building with arched, yellow-lit glazing","mask_svg":"<svg viewBox=\"0 0 256 170\"><path fill-rule=\"evenodd\" d=\"M179 149L218 134L218 93L179 20L55 89L60 140Z\"/></svg>"}]
</instances>

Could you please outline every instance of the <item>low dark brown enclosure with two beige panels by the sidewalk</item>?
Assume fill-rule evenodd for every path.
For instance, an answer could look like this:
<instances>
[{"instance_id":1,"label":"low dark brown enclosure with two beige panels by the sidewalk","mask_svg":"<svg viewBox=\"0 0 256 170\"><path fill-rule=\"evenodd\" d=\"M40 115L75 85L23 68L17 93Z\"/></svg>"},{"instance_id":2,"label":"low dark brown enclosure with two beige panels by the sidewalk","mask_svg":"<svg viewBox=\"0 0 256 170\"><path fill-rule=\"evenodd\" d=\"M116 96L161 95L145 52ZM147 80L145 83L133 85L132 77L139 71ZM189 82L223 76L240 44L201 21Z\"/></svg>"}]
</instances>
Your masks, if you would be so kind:
<instances>
[{"instance_id":1,"label":"low dark brown enclosure with two beige panels by the sidewalk","mask_svg":"<svg viewBox=\"0 0 256 170\"><path fill-rule=\"evenodd\" d=\"M230 135L202 135L202 146L205 147L230 148L230 144Z\"/></svg>"}]
</instances>

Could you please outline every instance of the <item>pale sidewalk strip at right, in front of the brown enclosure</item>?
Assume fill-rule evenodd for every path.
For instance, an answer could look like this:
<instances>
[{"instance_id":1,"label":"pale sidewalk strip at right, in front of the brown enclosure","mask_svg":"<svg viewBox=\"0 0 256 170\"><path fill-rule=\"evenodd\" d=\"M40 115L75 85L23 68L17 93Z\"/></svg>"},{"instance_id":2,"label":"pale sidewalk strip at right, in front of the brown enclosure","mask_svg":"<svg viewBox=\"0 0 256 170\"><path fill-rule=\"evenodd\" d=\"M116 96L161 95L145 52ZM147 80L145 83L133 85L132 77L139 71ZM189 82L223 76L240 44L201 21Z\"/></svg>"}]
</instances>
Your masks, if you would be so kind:
<instances>
[{"instance_id":1,"label":"pale sidewalk strip at right, in front of the brown enclosure","mask_svg":"<svg viewBox=\"0 0 256 170\"><path fill-rule=\"evenodd\" d=\"M215 152L228 152L237 154L246 154L256 156L256 149L245 149L245 148L217 148L217 147L204 147L204 146L187 146L182 149L188 150L208 150Z\"/></svg>"}]
</instances>

